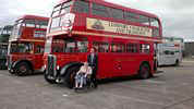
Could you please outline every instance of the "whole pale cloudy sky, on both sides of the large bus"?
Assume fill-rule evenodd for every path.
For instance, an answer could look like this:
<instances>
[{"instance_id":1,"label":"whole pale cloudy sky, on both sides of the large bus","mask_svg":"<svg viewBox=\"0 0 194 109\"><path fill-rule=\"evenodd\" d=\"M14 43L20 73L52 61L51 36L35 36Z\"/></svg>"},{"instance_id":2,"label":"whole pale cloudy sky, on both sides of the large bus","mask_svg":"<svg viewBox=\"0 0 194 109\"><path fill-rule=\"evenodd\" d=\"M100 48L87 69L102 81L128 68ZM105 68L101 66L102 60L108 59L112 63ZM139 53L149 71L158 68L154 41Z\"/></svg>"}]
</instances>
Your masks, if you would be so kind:
<instances>
[{"instance_id":1,"label":"whole pale cloudy sky, on both sides of the large bus","mask_svg":"<svg viewBox=\"0 0 194 109\"><path fill-rule=\"evenodd\" d=\"M60 0L0 0L0 26L13 24L23 14L50 16ZM194 0L106 0L108 2L157 14L163 26L163 36L194 40Z\"/></svg>"}]
</instances>

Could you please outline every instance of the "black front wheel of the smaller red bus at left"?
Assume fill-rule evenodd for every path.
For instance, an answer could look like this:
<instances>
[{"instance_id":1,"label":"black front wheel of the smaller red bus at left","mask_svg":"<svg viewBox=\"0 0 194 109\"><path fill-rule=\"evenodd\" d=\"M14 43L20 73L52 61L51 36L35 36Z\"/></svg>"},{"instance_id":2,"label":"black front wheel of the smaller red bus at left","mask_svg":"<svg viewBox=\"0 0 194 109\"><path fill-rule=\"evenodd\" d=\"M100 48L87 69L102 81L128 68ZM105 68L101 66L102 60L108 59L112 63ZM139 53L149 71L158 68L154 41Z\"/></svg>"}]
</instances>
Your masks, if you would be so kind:
<instances>
[{"instance_id":1,"label":"black front wheel of the smaller red bus at left","mask_svg":"<svg viewBox=\"0 0 194 109\"><path fill-rule=\"evenodd\" d=\"M15 74L19 76L32 74L33 70L26 62L21 62L15 65Z\"/></svg>"}]
</instances>

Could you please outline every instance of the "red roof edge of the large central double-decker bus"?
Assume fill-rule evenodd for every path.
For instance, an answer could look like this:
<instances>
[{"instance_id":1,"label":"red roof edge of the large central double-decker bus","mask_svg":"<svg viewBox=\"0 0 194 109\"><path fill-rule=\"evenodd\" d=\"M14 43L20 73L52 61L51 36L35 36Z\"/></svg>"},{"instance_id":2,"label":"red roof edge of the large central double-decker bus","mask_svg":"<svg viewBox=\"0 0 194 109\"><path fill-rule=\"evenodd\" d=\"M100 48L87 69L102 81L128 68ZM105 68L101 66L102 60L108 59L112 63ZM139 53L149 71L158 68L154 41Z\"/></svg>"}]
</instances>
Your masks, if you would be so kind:
<instances>
[{"instance_id":1,"label":"red roof edge of the large central double-decker bus","mask_svg":"<svg viewBox=\"0 0 194 109\"><path fill-rule=\"evenodd\" d=\"M70 0L60 0L59 4L66 2L66 1L70 1ZM104 5L116 8L116 9L122 9L122 10L125 10L125 11L135 12L135 13L141 14L141 15L146 15L146 16L149 16L149 17L158 19L158 16L155 15L155 14L151 14L151 13L148 13L148 12L145 12L145 11L141 11L141 10L136 10L136 9L131 9L131 8L128 8L128 7L124 7L124 5L107 2L105 0L85 0L85 1L92 1L92 2L95 2L95 3L98 3L98 4L104 4Z\"/></svg>"}]
</instances>

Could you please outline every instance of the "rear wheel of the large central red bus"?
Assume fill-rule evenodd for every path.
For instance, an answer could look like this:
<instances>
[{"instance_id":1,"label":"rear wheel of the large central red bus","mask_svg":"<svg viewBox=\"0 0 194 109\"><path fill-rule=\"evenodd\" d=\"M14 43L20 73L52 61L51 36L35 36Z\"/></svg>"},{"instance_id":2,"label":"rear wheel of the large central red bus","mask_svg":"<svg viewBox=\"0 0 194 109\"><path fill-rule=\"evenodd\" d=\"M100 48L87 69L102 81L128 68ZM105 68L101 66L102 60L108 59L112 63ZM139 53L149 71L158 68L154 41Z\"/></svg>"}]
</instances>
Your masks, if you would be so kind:
<instances>
[{"instance_id":1,"label":"rear wheel of the large central red bus","mask_svg":"<svg viewBox=\"0 0 194 109\"><path fill-rule=\"evenodd\" d=\"M146 80L150 77L150 69L148 64L142 64L140 66L138 76L141 80Z\"/></svg>"}]
</instances>

